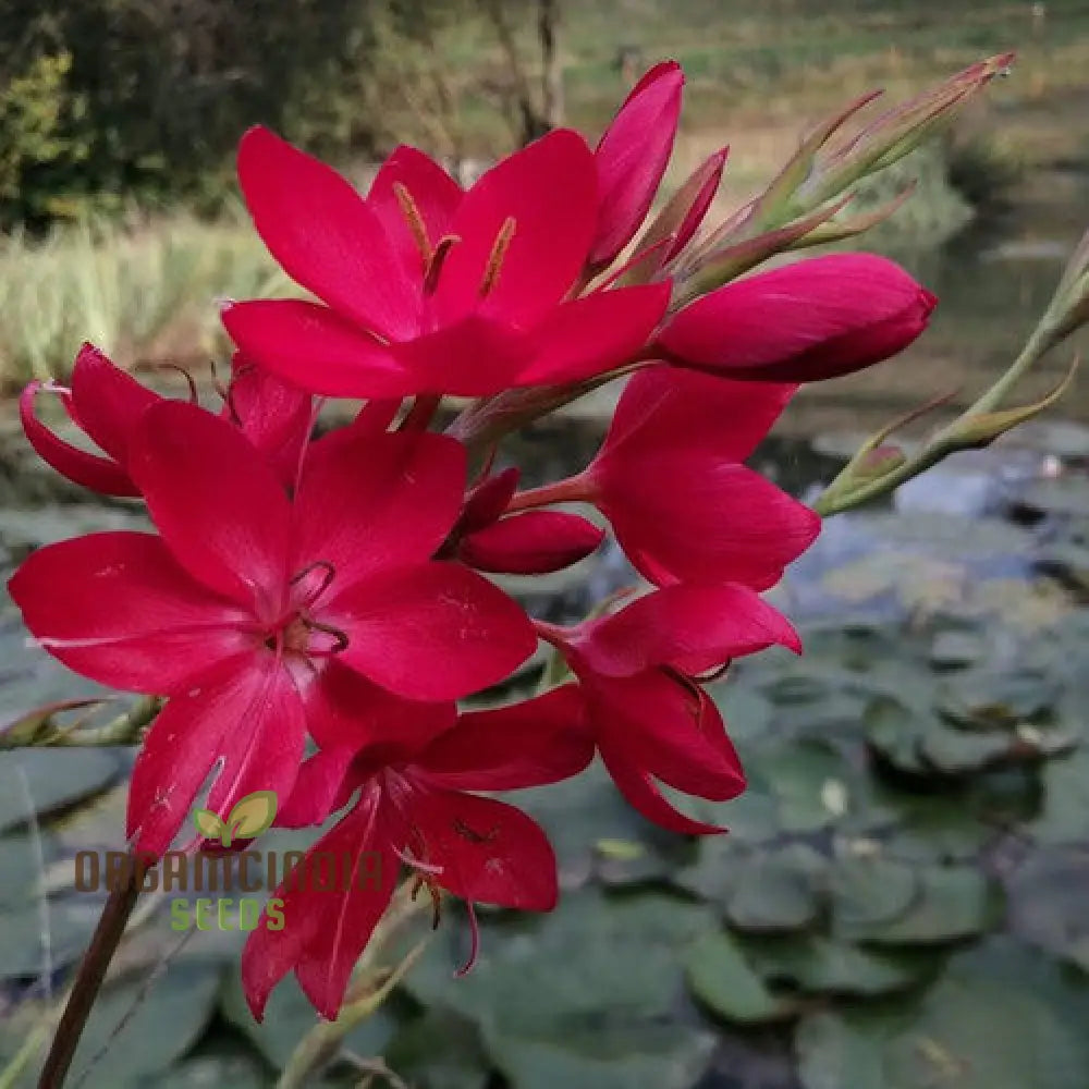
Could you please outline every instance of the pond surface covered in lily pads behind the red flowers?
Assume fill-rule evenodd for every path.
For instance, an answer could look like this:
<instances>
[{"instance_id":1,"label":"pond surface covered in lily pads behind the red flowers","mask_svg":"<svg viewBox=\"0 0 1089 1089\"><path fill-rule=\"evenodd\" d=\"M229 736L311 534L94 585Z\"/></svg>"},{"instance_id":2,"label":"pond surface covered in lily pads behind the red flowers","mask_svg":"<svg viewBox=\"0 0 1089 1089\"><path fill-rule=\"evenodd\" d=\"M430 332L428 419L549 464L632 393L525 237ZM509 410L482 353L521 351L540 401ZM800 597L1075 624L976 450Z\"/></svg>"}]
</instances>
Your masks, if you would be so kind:
<instances>
[{"instance_id":1,"label":"pond surface covered in lily pads behind the red flowers","mask_svg":"<svg viewBox=\"0 0 1089 1089\"><path fill-rule=\"evenodd\" d=\"M806 390L757 467L808 495L852 435L957 383L967 403L1016 353L1089 222L1081 189L1063 192L940 252L898 253L942 296L926 340L872 374ZM1062 370L1056 356L1040 383ZM512 449L524 484L585 465L610 397L530 429ZM465 929L446 913L404 993L351 1050L386 1055L420 1089L486 1089L497 1072L514 1089L1084 1089L1087 402L1068 400L1069 425L1026 428L828 522L774 591L806 656L760 656L714 689L749 790L697 809L729 836L693 843L649 827L598 768L521 793L513 800L555 845L561 907L487 915L464 980L452 970ZM0 453L10 561L143 525L123 503L58 489L12 426ZM605 549L543 588L509 585L536 613L573 620L631 577ZM0 726L93 690L26 645L10 605L0 614ZM56 986L94 926L71 858L118 846L129 760L0 752L0 1067L37 1015L44 957ZM272 849L301 842L282 835L295 839ZM236 979L241 935L199 938L145 994L140 972L161 968L176 939L161 913L145 926L133 974L108 992L77 1061L131 1016L89 1086L271 1085L313 1014L287 984L254 1026ZM358 1077L342 1065L320 1085Z\"/></svg>"}]
</instances>

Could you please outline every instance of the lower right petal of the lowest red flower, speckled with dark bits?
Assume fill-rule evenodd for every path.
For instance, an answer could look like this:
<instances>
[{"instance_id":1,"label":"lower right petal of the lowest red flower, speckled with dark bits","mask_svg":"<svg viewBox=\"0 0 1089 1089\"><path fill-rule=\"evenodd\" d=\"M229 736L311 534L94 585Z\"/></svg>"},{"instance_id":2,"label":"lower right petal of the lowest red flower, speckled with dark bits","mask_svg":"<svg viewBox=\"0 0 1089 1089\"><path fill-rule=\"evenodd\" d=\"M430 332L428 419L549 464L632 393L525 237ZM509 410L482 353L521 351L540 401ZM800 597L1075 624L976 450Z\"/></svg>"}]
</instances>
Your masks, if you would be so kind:
<instances>
[{"instance_id":1,"label":"lower right petal of the lowest red flower, speckled with dark bits","mask_svg":"<svg viewBox=\"0 0 1089 1089\"><path fill-rule=\"evenodd\" d=\"M419 831L426 860L441 867L436 880L455 896L527 911L555 907L555 855L521 809L457 791L421 790L409 796L405 818Z\"/></svg>"}]
</instances>

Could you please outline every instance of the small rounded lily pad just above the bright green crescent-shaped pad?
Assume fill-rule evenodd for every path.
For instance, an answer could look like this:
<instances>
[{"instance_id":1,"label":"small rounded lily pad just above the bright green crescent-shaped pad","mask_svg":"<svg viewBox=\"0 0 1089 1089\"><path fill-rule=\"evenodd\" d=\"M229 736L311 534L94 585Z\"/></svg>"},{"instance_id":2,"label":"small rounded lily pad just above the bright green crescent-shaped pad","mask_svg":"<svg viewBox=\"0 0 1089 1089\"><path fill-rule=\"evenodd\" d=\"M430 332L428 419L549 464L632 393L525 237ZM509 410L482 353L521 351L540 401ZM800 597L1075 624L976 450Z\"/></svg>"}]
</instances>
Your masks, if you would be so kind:
<instances>
[{"instance_id":1,"label":"small rounded lily pad just above the bright green crescent-shaped pad","mask_svg":"<svg viewBox=\"0 0 1089 1089\"><path fill-rule=\"evenodd\" d=\"M726 918L738 930L756 932L808 927L820 911L818 882L825 868L822 855L800 844L752 855L737 867Z\"/></svg>"}]
</instances>

